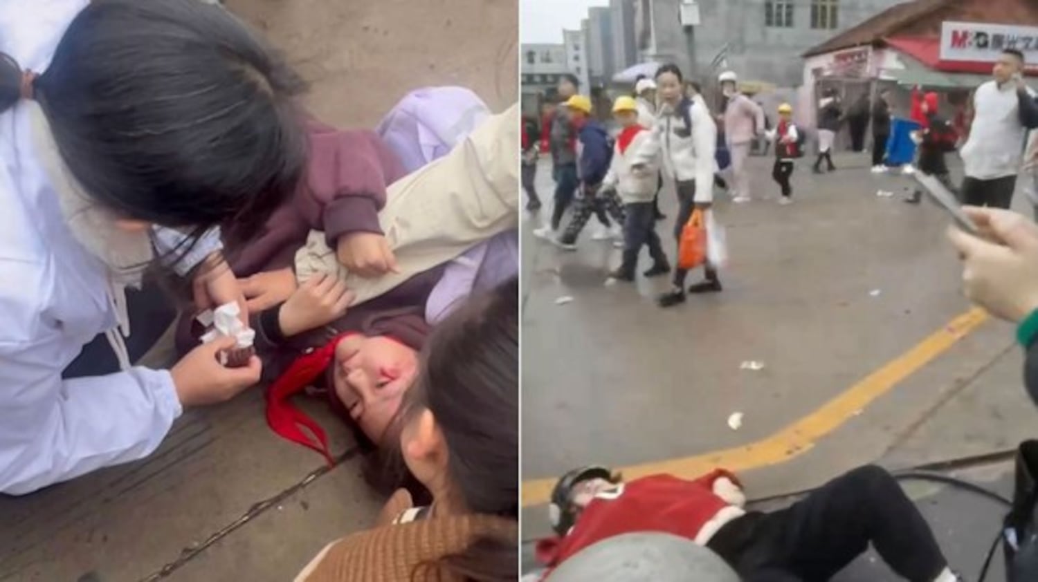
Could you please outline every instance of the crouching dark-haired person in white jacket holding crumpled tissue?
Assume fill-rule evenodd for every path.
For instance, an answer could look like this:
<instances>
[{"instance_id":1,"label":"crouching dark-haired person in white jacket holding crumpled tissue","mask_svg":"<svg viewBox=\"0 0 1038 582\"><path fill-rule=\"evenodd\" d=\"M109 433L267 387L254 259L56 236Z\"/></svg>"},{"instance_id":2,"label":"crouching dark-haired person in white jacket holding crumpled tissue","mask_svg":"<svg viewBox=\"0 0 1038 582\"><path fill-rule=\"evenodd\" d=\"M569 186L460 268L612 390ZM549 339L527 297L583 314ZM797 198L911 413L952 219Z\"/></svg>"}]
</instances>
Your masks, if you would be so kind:
<instances>
[{"instance_id":1,"label":"crouching dark-haired person in white jacket holding crumpled tissue","mask_svg":"<svg viewBox=\"0 0 1038 582\"><path fill-rule=\"evenodd\" d=\"M262 223L306 159L301 84L222 7L25 4L0 3L0 493L11 495L141 459L185 406L258 381L254 357L218 363L230 338L171 369L133 367L149 347L135 343L125 292L158 258L199 273L198 303L243 302L228 269L193 268L218 260L217 225ZM112 369L72 371L99 337Z\"/></svg>"}]
</instances>

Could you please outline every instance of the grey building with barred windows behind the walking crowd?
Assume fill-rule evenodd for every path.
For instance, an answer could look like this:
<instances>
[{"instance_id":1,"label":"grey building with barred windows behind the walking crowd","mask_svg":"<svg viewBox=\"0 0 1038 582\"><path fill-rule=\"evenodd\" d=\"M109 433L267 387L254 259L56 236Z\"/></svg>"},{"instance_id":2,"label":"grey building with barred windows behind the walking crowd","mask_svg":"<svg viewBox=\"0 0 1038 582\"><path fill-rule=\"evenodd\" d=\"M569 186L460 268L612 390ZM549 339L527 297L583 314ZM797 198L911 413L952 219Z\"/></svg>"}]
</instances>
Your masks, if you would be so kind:
<instances>
[{"instance_id":1,"label":"grey building with barred windows behind the walking crowd","mask_svg":"<svg viewBox=\"0 0 1038 582\"><path fill-rule=\"evenodd\" d=\"M637 19L647 58L673 60L701 80L727 67L745 80L794 87L808 49L904 0L698 0L701 24L690 40L678 19L682 1L636 1L648 13Z\"/></svg>"}]
</instances>

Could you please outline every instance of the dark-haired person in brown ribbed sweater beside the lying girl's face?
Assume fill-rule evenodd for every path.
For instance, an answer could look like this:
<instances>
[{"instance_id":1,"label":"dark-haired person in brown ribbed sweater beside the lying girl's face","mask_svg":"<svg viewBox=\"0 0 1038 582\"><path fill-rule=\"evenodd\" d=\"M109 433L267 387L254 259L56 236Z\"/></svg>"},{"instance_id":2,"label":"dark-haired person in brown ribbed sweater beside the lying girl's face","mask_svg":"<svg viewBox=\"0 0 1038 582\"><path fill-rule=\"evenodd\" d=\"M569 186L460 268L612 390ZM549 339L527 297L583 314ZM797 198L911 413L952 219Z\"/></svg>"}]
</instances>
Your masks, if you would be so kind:
<instances>
[{"instance_id":1,"label":"dark-haired person in brown ribbed sweater beside the lying girl's face","mask_svg":"<svg viewBox=\"0 0 1038 582\"><path fill-rule=\"evenodd\" d=\"M375 529L326 547L297 582L518 579L518 296L512 279L474 297L425 351L394 438L433 503L398 492Z\"/></svg>"}]
</instances>

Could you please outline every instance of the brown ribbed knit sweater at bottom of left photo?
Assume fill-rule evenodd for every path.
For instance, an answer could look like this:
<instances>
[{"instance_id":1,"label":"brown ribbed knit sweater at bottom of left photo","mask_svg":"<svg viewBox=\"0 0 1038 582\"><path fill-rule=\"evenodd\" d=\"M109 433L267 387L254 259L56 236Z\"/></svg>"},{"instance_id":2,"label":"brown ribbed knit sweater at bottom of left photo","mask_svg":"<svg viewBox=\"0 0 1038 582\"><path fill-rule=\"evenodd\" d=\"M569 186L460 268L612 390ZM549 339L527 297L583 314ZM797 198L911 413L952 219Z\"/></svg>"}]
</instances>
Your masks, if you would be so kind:
<instances>
[{"instance_id":1,"label":"brown ribbed knit sweater at bottom of left photo","mask_svg":"<svg viewBox=\"0 0 1038 582\"><path fill-rule=\"evenodd\" d=\"M296 582L455 582L415 567L463 551L475 537L518 539L515 522L487 516L432 518L354 533L325 548ZM518 543L517 543L518 544ZM518 545L517 545L518 555Z\"/></svg>"}]
</instances>

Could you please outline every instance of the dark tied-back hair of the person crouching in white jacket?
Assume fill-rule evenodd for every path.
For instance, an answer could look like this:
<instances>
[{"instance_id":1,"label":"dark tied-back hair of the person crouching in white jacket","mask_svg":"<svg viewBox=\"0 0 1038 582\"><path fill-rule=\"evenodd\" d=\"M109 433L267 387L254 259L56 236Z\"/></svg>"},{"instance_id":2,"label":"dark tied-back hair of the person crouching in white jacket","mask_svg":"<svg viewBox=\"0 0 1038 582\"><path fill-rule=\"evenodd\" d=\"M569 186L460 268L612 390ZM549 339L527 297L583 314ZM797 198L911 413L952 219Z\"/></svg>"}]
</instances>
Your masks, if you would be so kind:
<instances>
[{"instance_id":1,"label":"dark tied-back hair of the person crouching in white jacket","mask_svg":"<svg viewBox=\"0 0 1038 582\"><path fill-rule=\"evenodd\" d=\"M0 112L22 78L0 59ZM192 238L254 230L305 168L302 81L218 5L93 0L31 88L94 200Z\"/></svg>"}]
</instances>

